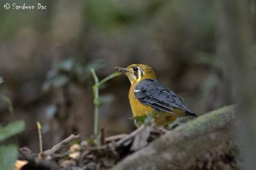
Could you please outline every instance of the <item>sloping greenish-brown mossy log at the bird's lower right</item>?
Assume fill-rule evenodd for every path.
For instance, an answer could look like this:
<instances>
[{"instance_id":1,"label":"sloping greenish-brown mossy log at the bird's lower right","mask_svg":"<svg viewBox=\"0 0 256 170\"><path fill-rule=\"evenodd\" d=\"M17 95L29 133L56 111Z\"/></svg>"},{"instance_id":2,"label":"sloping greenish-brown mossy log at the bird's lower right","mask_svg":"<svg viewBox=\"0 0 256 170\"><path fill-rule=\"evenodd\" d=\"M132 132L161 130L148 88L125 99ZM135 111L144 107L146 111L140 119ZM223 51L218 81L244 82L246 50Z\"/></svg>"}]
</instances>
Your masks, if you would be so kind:
<instances>
[{"instance_id":1,"label":"sloping greenish-brown mossy log at the bird's lower right","mask_svg":"<svg viewBox=\"0 0 256 170\"><path fill-rule=\"evenodd\" d=\"M206 113L167 132L113 170L239 169L234 106Z\"/></svg>"}]
</instances>

